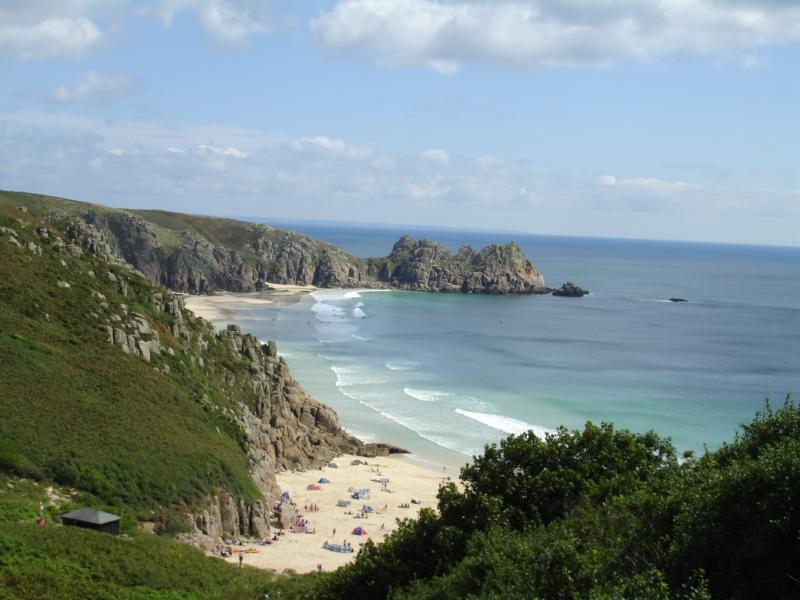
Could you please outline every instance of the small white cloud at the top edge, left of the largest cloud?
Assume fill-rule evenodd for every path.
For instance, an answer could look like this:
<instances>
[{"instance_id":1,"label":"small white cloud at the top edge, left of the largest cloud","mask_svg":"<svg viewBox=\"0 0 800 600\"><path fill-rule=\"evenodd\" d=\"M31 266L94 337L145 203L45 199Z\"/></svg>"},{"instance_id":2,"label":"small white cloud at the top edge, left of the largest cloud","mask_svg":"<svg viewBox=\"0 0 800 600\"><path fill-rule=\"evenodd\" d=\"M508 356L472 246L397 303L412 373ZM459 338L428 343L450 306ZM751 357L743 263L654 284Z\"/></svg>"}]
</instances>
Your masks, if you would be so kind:
<instances>
[{"instance_id":1,"label":"small white cloud at the top edge, left of the largest cloud","mask_svg":"<svg viewBox=\"0 0 800 600\"><path fill-rule=\"evenodd\" d=\"M212 39L239 46L254 35L272 31L264 4L255 0L162 0L158 13L169 26L176 14L188 10Z\"/></svg>"}]
</instances>

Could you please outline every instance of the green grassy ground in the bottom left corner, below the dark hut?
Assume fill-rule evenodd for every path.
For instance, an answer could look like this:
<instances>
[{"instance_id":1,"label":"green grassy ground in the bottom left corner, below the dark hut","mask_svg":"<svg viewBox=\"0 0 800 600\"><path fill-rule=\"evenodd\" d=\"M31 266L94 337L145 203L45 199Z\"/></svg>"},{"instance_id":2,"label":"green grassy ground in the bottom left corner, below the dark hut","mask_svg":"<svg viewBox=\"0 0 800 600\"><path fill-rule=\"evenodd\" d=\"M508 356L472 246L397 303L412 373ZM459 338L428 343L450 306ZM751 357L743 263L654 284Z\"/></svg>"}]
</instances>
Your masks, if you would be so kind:
<instances>
[{"instance_id":1,"label":"green grassy ground in the bottom left corner, below the dark hut","mask_svg":"<svg viewBox=\"0 0 800 600\"><path fill-rule=\"evenodd\" d=\"M36 525L45 487L0 474L0 598L19 600L261 600L273 576L239 569L152 534L113 537L52 524L70 501Z\"/></svg>"}]
</instances>

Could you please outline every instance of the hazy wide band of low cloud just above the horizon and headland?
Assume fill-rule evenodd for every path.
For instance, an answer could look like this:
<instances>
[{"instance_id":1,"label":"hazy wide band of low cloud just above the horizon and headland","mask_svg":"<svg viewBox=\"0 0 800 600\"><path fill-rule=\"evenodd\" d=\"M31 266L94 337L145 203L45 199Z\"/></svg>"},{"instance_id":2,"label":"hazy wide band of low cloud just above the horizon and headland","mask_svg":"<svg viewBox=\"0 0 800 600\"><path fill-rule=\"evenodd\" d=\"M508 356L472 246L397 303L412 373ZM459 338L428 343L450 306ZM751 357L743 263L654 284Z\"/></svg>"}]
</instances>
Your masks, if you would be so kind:
<instances>
[{"instance_id":1,"label":"hazy wide band of low cloud just above the horizon and headland","mask_svg":"<svg viewBox=\"0 0 800 600\"><path fill-rule=\"evenodd\" d=\"M371 157L348 158L360 148ZM797 245L800 196L794 182L781 189L780 177L774 187L707 178L700 186L685 181L699 175L681 176L674 165L675 176L623 178L502 157L443 164L422 153L326 136L0 111L0 180L9 189L276 219Z\"/></svg>"}]
</instances>

